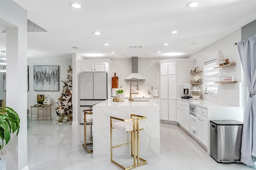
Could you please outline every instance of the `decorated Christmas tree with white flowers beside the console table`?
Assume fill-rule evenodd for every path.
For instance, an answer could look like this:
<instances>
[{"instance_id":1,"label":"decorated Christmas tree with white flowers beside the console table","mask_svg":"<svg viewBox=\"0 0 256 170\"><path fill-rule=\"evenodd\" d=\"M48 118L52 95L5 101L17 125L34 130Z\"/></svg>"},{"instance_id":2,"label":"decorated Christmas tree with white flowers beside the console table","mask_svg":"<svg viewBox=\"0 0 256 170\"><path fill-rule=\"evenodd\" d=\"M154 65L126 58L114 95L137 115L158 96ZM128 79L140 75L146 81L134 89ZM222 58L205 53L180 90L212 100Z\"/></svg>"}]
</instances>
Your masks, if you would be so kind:
<instances>
[{"instance_id":1,"label":"decorated Christmas tree with white flowers beside the console table","mask_svg":"<svg viewBox=\"0 0 256 170\"><path fill-rule=\"evenodd\" d=\"M57 123L72 123L72 68L68 66L68 77L64 83L62 94L56 103Z\"/></svg>"}]
</instances>

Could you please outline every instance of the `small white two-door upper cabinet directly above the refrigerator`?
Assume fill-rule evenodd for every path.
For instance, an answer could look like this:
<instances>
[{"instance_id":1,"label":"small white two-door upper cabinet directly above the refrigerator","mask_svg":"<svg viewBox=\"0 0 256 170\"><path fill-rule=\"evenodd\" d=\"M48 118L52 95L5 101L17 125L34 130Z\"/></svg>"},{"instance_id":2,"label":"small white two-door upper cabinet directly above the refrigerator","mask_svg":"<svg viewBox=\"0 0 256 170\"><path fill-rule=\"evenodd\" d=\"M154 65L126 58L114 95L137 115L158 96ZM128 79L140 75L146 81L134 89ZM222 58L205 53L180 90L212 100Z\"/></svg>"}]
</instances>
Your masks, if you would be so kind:
<instances>
[{"instance_id":1,"label":"small white two-door upper cabinet directly above the refrigerator","mask_svg":"<svg viewBox=\"0 0 256 170\"><path fill-rule=\"evenodd\" d=\"M81 62L81 72L106 72L106 62Z\"/></svg>"}]
</instances>

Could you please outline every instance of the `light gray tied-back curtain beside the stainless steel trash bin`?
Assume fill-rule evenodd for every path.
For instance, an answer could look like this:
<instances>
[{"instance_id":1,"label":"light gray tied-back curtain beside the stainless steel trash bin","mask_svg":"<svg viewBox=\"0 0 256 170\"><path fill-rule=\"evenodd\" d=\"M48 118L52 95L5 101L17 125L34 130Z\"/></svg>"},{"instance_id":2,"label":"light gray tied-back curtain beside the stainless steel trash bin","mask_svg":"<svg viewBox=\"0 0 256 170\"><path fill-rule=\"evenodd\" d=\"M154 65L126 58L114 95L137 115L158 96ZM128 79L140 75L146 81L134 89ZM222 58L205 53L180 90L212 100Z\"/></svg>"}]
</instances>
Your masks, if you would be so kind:
<instances>
[{"instance_id":1,"label":"light gray tied-back curtain beside the stainless steel trash bin","mask_svg":"<svg viewBox=\"0 0 256 170\"><path fill-rule=\"evenodd\" d=\"M241 161L255 168L256 157L256 36L238 42L238 51L250 93L244 115Z\"/></svg>"}]
</instances>

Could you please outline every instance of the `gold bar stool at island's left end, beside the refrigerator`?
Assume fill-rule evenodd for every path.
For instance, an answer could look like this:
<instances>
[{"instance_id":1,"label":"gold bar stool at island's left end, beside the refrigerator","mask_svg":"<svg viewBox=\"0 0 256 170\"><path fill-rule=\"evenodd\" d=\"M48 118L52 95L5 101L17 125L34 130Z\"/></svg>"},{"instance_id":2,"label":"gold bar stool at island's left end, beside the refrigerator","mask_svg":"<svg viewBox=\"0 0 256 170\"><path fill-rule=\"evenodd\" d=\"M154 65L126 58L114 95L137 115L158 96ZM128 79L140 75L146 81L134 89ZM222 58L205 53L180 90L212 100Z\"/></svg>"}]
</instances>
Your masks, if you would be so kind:
<instances>
[{"instance_id":1,"label":"gold bar stool at island's left end, beside the refrigerator","mask_svg":"<svg viewBox=\"0 0 256 170\"><path fill-rule=\"evenodd\" d=\"M84 112L84 144L82 144L84 150L86 150L87 153L92 152L92 107L88 110L83 110ZM86 123L90 124L90 136L89 140L90 143L86 143ZM90 148L90 149L89 149Z\"/></svg>"}]
</instances>

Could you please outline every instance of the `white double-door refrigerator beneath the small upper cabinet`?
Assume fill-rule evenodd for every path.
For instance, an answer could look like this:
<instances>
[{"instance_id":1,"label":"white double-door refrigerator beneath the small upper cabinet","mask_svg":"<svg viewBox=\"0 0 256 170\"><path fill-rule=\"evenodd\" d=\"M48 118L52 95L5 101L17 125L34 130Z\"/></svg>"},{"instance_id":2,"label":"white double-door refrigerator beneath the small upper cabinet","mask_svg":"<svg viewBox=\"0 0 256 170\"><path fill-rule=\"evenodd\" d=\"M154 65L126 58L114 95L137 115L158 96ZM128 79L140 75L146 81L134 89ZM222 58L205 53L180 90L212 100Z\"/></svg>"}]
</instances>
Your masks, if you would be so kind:
<instances>
[{"instance_id":1,"label":"white double-door refrigerator beneath the small upper cabinet","mask_svg":"<svg viewBox=\"0 0 256 170\"><path fill-rule=\"evenodd\" d=\"M79 76L80 115L79 122L84 124L84 112L92 105L96 105L107 99L107 73L106 72L82 72Z\"/></svg>"}]
</instances>

